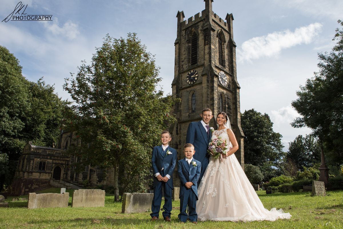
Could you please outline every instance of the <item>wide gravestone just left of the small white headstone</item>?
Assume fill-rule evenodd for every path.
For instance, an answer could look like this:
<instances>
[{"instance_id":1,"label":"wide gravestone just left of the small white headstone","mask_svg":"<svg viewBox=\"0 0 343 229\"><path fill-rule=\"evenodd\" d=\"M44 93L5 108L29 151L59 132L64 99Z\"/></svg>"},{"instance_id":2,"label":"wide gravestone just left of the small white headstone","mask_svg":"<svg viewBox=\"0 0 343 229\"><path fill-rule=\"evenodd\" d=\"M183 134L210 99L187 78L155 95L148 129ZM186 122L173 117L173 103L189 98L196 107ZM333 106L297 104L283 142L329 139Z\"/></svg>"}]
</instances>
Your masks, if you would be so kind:
<instances>
[{"instance_id":1,"label":"wide gravestone just left of the small white headstone","mask_svg":"<svg viewBox=\"0 0 343 229\"><path fill-rule=\"evenodd\" d=\"M68 207L69 193L29 193L27 208Z\"/></svg>"}]
</instances>

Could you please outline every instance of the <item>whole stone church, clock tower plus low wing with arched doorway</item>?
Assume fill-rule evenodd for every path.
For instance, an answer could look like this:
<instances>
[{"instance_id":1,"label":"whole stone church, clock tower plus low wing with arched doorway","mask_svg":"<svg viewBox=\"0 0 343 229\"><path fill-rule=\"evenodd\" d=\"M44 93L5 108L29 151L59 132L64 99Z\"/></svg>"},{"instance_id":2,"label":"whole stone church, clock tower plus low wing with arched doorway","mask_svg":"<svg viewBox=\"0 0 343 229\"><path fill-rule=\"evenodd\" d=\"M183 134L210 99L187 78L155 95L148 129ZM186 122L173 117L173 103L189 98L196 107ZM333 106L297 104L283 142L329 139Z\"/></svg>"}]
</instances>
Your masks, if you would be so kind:
<instances>
[{"instance_id":1,"label":"whole stone church, clock tower plus low wing with arched doorway","mask_svg":"<svg viewBox=\"0 0 343 229\"><path fill-rule=\"evenodd\" d=\"M236 72L236 44L233 39L233 15L227 14L225 21L212 11L213 0L204 0L205 10L184 20L179 11L177 38L175 41L175 72L171 84L173 95L181 98L171 113L177 122L170 127L173 135L171 146L177 149L179 158L186 144L187 127L190 122L200 121L203 108L209 107L216 115L220 111L228 114L239 149L235 153L244 168L243 130L240 126L240 101ZM215 117L210 126L216 128ZM72 164L80 158L66 154L70 144L80 139L71 131L63 131L56 147L34 146L28 142L19 159L12 183L11 195L19 196L36 192L44 187L81 185L113 185L113 169L104 173L98 167L85 166L76 171ZM105 175L106 174L106 175ZM174 177L177 178L175 168ZM61 182L63 181L63 183ZM179 186L179 179L174 179ZM72 187L72 186L71 186Z\"/></svg>"}]
</instances>

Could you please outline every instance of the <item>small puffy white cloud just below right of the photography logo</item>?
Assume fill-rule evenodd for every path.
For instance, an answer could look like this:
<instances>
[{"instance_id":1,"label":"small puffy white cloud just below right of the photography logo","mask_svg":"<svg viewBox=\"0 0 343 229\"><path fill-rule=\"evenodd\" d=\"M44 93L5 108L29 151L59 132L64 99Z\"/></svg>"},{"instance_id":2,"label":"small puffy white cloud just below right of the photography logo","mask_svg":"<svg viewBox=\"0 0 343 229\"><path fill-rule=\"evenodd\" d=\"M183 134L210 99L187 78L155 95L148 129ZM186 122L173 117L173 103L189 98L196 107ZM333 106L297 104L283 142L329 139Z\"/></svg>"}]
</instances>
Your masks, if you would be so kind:
<instances>
[{"instance_id":1,"label":"small puffy white cloud just below right of the photography logo","mask_svg":"<svg viewBox=\"0 0 343 229\"><path fill-rule=\"evenodd\" d=\"M54 35L62 35L69 39L74 39L80 34L78 25L71 21L67 21L63 26L59 26L58 18L55 17L53 22L42 21L42 23Z\"/></svg>"}]
</instances>

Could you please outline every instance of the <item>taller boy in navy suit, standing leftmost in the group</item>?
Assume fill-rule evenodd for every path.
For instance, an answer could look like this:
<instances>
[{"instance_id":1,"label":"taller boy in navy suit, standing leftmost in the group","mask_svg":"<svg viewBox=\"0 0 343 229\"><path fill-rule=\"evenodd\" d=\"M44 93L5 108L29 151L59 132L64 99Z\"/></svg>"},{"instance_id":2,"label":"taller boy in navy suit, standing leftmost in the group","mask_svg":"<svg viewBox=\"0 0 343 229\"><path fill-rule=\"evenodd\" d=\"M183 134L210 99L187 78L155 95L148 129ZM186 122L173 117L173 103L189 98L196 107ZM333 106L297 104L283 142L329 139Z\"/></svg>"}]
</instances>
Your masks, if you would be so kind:
<instances>
[{"instance_id":1,"label":"taller boy in navy suit, standing leftmost in the group","mask_svg":"<svg viewBox=\"0 0 343 229\"><path fill-rule=\"evenodd\" d=\"M171 201L173 186L173 173L177 160L177 152L169 147L171 135L168 131L161 134L161 146L155 146L152 151L152 169L154 174L154 198L151 204L151 221L155 221L159 216L159 209L162 201L162 187L164 191L163 218L170 221Z\"/></svg>"}]
</instances>

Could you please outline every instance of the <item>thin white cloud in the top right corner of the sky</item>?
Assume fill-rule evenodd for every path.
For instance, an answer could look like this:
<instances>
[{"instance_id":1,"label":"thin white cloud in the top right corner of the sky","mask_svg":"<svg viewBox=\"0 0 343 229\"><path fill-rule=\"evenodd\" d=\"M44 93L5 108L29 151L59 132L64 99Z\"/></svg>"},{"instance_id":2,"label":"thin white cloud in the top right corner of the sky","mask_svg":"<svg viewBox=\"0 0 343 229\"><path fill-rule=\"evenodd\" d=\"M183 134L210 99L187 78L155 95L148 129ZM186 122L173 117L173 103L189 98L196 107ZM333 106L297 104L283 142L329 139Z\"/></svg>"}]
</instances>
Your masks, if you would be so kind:
<instances>
[{"instance_id":1,"label":"thin white cloud in the top right corner of the sky","mask_svg":"<svg viewBox=\"0 0 343 229\"><path fill-rule=\"evenodd\" d=\"M338 20L343 15L342 0L276 0L276 2L283 7L293 8L316 17L328 16L333 20Z\"/></svg>"}]
</instances>

